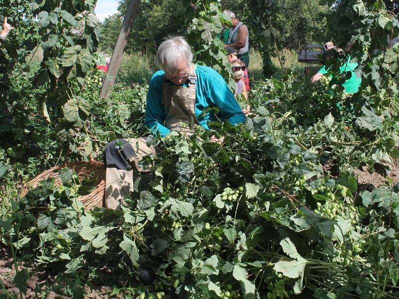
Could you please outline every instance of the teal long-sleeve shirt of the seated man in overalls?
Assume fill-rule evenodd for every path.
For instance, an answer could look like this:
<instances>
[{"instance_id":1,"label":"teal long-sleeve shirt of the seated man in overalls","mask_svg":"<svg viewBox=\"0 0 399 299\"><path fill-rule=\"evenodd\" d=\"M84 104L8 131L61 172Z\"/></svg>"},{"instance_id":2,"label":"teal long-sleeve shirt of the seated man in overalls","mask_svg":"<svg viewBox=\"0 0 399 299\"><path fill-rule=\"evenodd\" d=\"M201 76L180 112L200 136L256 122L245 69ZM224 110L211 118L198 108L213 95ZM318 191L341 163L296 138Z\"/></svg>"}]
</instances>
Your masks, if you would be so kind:
<instances>
[{"instance_id":1,"label":"teal long-sleeve shirt of the seated man in overalls","mask_svg":"<svg viewBox=\"0 0 399 299\"><path fill-rule=\"evenodd\" d=\"M162 86L164 82L163 70L156 72L151 78L147 94L147 108L145 125L153 132L159 131L162 136L168 135L171 131L164 126L166 113L162 104ZM232 125L245 122L245 116L234 98L234 95L224 82L223 78L212 68L207 66L196 67L196 116L202 127L208 130L207 122L216 121L216 117L202 111L207 107L219 108L218 117L227 119ZM171 83L173 84L173 83ZM184 84L183 86L187 86Z\"/></svg>"}]
</instances>

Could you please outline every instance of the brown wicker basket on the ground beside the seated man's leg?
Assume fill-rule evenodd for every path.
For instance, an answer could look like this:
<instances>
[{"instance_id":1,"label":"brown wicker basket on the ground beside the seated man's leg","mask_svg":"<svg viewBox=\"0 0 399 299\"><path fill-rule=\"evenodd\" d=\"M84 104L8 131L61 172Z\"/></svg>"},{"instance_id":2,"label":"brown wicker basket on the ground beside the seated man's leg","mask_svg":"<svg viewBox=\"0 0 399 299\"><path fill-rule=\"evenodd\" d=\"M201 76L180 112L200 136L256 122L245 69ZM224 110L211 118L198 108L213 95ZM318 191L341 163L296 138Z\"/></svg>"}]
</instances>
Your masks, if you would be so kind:
<instances>
[{"instance_id":1,"label":"brown wicker basket on the ground beside the seated man's leg","mask_svg":"<svg viewBox=\"0 0 399 299\"><path fill-rule=\"evenodd\" d=\"M69 169L75 171L80 180L92 172L94 173L94 176L98 177L97 186L95 189L91 193L79 197L79 200L83 203L86 210L91 210L94 207L102 207L105 191L105 168L104 164L98 161L66 163L62 166L56 166L51 169L47 169L31 179L24 186L21 197L25 196L30 187L36 187L41 180L48 177L54 177L55 185L61 185L61 178L58 176L58 170L63 167L68 167Z\"/></svg>"}]
</instances>

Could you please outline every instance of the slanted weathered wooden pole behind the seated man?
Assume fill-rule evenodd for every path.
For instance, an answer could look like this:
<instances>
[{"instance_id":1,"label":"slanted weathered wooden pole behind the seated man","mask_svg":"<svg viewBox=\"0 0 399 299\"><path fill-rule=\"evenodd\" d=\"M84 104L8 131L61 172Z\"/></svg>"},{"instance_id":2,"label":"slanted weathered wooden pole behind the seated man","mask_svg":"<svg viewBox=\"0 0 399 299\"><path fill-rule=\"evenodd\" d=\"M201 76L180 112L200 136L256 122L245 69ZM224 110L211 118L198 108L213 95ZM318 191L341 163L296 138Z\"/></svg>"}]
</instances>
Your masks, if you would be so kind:
<instances>
[{"instance_id":1,"label":"slanted weathered wooden pole behind the seated man","mask_svg":"<svg viewBox=\"0 0 399 299\"><path fill-rule=\"evenodd\" d=\"M140 0L130 0L125 19L122 24L121 31L119 32L118 39L116 40L114 51L112 52L111 61L108 66L107 75L103 86L101 87L100 97L108 99L112 86L114 86L115 78L121 64L123 52L128 42L130 29L132 28L133 21L136 18L137 10L139 10Z\"/></svg>"}]
</instances>

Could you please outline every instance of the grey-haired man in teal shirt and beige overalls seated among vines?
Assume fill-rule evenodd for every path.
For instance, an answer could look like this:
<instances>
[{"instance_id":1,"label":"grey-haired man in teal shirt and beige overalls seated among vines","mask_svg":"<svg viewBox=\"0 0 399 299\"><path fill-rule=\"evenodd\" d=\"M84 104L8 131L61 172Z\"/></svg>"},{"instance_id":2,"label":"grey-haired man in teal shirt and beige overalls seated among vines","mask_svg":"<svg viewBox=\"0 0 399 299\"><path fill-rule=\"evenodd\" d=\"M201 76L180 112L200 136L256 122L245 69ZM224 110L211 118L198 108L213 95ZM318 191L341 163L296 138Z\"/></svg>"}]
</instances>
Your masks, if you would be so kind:
<instances>
[{"instance_id":1,"label":"grey-haired man in teal shirt and beige overalls seated among vines","mask_svg":"<svg viewBox=\"0 0 399 299\"><path fill-rule=\"evenodd\" d=\"M161 70L151 78L147 93L145 125L152 133L165 137L171 132L190 136L196 127L208 129L208 122L227 120L232 125L245 122L234 95L224 79L212 68L192 63L190 45L181 37L166 39L157 50ZM218 115L208 108L218 107ZM223 138L210 138L222 143ZM104 150L105 207L118 209L133 191L133 170L142 168L144 156L157 154L161 147L148 146L146 138L118 139ZM133 169L132 169L133 168Z\"/></svg>"}]
</instances>

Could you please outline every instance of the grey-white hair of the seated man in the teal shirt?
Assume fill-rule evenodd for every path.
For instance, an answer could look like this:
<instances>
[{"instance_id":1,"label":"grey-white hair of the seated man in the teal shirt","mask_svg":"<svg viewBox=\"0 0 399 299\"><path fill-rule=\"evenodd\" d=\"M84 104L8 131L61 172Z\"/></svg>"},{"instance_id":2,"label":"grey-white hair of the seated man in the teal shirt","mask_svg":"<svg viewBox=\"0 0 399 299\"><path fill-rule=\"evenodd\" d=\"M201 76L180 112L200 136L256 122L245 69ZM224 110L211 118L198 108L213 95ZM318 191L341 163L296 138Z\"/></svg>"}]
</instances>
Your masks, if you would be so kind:
<instances>
[{"instance_id":1,"label":"grey-white hair of the seated man in the teal shirt","mask_svg":"<svg viewBox=\"0 0 399 299\"><path fill-rule=\"evenodd\" d=\"M165 72L174 73L182 59L187 61L188 67L193 61L193 53L183 36L169 37L159 46L157 62Z\"/></svg>"}]
</instances>

